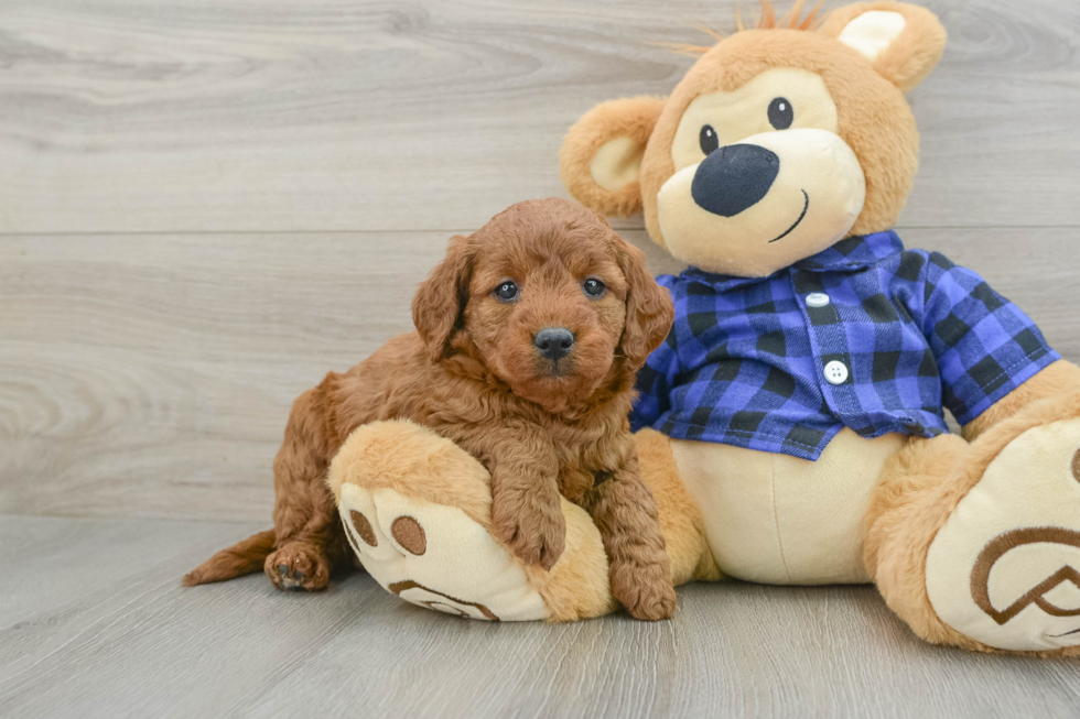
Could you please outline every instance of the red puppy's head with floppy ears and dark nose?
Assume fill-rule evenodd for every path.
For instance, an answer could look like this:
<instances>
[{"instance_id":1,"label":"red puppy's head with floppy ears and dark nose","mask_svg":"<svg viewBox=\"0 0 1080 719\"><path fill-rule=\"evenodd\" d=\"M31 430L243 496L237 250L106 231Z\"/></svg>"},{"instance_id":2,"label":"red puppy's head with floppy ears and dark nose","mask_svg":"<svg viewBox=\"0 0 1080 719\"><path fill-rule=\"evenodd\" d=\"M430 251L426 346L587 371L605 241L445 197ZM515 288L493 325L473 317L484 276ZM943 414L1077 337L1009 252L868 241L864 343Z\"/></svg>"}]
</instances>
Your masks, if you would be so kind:
<instances>
[{"instance_id":1,"label":"red puppy's head with floppy ears and dark nose","mask_svg":"<svg viewBox=\"0 0 1080 719\"><path fill-rule=\"evenodd\" d=\"M588 400L613 371L636 372L673 316L640 250L561 199L518 203L452 239L412 312L433 360L467 347L549 408Z\"/></svg>"}]
</instances>

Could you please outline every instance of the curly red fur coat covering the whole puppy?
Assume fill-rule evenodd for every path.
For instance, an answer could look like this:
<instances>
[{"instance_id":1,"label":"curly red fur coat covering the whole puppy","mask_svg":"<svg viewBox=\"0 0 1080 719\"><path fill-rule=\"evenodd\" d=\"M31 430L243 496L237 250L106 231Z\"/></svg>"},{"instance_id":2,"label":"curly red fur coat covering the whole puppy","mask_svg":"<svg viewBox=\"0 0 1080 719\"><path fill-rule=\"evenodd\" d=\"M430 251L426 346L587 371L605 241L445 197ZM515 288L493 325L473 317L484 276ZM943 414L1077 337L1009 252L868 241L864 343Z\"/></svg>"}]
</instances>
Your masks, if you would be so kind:
<instances>
[{"instance_id":1,"label":"curly red fur coat covering the whole puppy","mask_svg":"<svg viewBox=\"0 0 1080 719\"><path fill-rule=\"evenodd\" d=\"M606 286L601 296L583 292L590 277ZM494 295L507 281L519 287L512 302ZM487 467L494 532L523 562L550 568L562 553L562 493L593 514L614 596L635 617L670 617L663 536L638 477L627 414L636 372L672 317L640 250L579 205L519 203L474 235L453 238L413 301L417 331L343 374L331 372L294 403L274 460L277 549L263 564L270 579L321 589L345 564L327 466L359 425L407 418ZM533 342L551 326L574 335L560 360L546 359ZM250 551L240 553L242 562L229 552L188 582L251 570Z\"/></svg>"}]
</instances>

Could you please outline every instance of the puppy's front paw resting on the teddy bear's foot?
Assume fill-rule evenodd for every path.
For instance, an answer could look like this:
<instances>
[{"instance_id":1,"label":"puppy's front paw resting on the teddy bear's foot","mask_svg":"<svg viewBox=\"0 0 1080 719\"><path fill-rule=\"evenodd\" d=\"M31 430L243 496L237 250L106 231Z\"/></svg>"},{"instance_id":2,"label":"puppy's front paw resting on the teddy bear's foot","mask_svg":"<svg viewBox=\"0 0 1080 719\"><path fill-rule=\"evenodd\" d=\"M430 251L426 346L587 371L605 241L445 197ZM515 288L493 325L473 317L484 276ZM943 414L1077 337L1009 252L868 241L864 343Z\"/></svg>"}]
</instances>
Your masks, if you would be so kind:
<instances>
[{"instance_id":1,"label":"puppy's front paw resting on the teddy bear's foot","mask_svg":"<svg viewBox=\"0 0 1080 719\"><path fill-rule=\"evenodd\" d=\"M541 506L537 511L533 503L507 499L492 506L495 536L526 564L550 570L566 546L566 521L558 500L553 509Z\"/></svg>"}]
</instances>

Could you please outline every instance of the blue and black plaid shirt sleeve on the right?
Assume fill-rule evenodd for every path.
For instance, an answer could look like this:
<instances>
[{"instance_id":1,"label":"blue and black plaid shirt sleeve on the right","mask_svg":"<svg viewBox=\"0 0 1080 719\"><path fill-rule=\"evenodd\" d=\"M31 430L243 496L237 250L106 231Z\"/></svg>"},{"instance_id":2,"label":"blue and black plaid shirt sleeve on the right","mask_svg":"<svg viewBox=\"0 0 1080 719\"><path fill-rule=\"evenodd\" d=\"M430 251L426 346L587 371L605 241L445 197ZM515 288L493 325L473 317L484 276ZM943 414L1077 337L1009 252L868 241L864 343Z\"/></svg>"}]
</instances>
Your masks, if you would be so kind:
<instances>
[{"instance_id":1,"label":"blue and black plaid shirt sleeve on the right","mask_svg":"<svg viewBox=\"0 0 1080 719\"><path fill-rule=\"evenodd\" d=\"M928 257L922 329L944 405L962 425L1060 359L1035 323L978 273Z\"/></svg>"}]
</instances>

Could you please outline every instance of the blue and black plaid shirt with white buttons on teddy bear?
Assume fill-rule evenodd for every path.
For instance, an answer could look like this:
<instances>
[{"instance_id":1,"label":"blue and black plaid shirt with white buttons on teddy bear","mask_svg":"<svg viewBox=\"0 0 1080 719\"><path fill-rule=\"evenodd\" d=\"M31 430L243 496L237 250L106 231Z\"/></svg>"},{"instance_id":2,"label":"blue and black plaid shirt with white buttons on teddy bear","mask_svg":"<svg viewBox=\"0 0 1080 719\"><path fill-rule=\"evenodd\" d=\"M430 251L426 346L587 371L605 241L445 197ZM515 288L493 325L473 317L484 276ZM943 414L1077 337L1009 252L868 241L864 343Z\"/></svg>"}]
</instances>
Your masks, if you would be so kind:
<instances>
[{"instance_id":1,"label":"blue and black plaid shirt with white buttons on teddy bear","mask_svg":"<svg viewBox=\"0 0 1080 719\"><path fill-rule=\"evenodd\" d=\"M682 439L817 459L845 426L932 437L948 431L942 405L968 424L1059 359L982 277L892 231L768 277L691 268L657 281L676 320L630 421ZM825 366L846 379L830 383Z\"/></svg>"}]
</instances>

